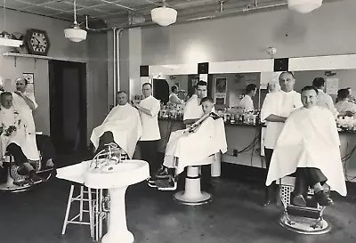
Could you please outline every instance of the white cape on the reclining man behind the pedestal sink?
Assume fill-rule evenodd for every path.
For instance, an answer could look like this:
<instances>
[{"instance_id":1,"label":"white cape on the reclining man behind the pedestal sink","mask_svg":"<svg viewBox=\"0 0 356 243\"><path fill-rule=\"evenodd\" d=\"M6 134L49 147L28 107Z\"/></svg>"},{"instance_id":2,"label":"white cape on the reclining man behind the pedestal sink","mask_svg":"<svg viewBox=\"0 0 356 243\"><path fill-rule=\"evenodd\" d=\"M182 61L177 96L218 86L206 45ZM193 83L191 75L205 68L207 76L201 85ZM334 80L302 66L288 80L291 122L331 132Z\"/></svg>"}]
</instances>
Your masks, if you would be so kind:
<instances>
[{"instance_id":1,"label":"white cape on the reclining man behind the pedestal sink","mask_svg":"<svg viewBox=\"0 0 356 243\"><path fill-rule=\"evenodd\" d=\"M117 145L125 150L129 158L133 158L136 143L142 136L138 110L128 103L111 109L101 126L93 129L90 141L93 142L95 149L98 149L100 137L105 132L111 132Z\"/></svg>"}]
</instances>

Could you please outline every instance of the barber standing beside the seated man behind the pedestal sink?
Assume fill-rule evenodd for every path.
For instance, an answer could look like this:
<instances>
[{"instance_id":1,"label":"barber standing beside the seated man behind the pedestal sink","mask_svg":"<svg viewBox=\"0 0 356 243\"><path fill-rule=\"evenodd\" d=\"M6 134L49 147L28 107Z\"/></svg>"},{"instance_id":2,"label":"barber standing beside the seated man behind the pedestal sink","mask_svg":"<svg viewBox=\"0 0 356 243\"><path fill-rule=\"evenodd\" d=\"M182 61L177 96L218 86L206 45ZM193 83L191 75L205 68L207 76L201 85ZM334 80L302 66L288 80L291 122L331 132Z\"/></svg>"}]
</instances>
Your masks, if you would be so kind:
<instances>
[{"instance_id":1,"label":"barber standing beside the seated man behind the pedestal sink","mask_svg":"<svg viewBox=\"0 0 356 243\"><path fill-rule=\"evenodd\" d=\"M142 136L139 141L142 159L149 162L150 174L152 174L158 163L158 140L161 139L158 127L160 103L152 96L152 85L150 83L142 85L142 93L144 99L134 107L139 110L142 122Z\"/></svg>"}]
</instances>

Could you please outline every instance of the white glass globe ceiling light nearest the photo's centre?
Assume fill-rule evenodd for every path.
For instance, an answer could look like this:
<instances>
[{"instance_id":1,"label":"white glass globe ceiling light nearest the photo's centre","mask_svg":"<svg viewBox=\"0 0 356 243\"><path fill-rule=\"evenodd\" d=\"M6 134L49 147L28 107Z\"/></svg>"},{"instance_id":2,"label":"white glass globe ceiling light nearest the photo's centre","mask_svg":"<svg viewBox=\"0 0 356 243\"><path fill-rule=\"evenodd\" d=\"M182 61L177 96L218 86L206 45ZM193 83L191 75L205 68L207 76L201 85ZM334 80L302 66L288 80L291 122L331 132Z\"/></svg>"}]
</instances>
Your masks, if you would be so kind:
<instances>
[{"instance_id":1,"label":"white glass globe ceiling light nearest the photo's centre","mask_svg":"<svg viewBox=\"0 0 356 243\"><path fill-rule=\"evenodd\" d=\"M168 26L177 20L177 11L173 8L166 6L166 0L163 1L163 6L152 9L150 11L150 16L152 21L160 26Z\"/></svg>"}]
</instances>

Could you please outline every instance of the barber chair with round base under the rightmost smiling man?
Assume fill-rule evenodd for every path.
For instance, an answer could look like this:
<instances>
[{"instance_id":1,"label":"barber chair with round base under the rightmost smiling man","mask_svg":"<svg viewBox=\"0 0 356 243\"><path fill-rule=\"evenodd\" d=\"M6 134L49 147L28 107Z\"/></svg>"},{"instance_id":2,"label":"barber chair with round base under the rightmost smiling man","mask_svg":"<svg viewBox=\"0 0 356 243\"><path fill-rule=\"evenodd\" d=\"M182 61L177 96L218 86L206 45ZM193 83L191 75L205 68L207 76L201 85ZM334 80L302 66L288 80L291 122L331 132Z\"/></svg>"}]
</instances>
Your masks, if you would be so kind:
<instances>
[{"instance_id":1,"label":"barber chair with round base under the rightmost smiling man","mask_svg":"<svg viewBox=\"0 0 356 243\"><path fill-rule=\"evenodd\" d=\"M313 198L314 191L309 189L305 198L306 207L298 207L291 204L295 177L286 176L277 181L279 184L279 196L284 210L279 218L279 224L289 231L300 234L320 235L331 230L331 224L323 218L326 207L321 207Z\"/></svg>"}]
</instances>

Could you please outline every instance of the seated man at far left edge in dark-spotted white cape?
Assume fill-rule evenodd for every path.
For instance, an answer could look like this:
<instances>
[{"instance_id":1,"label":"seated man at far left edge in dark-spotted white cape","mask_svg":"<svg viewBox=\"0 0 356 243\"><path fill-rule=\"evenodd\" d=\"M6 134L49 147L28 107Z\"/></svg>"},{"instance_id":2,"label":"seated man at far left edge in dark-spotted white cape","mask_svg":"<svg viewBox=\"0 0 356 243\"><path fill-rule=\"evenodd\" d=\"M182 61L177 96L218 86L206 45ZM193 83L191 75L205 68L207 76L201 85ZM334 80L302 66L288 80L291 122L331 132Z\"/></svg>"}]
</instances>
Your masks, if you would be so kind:
<instances>
[{"instance_id":1,"label":"seated man at far left edge in dark-spotted white cape","mask_svg":"<svg viewBox=\"0 0 356 243\"><path fill-rule=\"evenodd\" d=\"M26 139L28 134L26 133L26 124L24 123L24 118L21 116L20 112L12 105L12 93L1 93L0 100L0 164L3 166L3 159L7 151L13 156L15 164L20 166L19 174L28 174L30 182L41 182L42 178L36 175L35 168L29 163L28 157L22 150L22 148L28 146L28 140Z\"/></svg>"}]
</instances>

